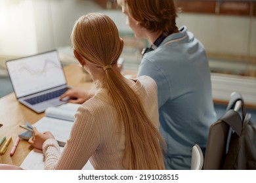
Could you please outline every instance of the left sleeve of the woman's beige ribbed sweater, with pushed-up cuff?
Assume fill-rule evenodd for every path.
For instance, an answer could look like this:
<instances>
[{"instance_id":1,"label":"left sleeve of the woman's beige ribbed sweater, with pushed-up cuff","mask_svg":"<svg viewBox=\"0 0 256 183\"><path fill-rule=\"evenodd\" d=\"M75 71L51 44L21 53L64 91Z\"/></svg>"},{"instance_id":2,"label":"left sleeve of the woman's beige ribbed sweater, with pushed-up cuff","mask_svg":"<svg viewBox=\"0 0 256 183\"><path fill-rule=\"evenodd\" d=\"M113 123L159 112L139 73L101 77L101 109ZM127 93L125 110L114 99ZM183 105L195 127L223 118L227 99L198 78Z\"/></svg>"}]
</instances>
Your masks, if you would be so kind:
<instances>
[{"instance_id":1,"label":"left sleeve of the woman's beige ribbed sweater, with pushed-up cuff","mask_svg":"<svg viewBox=\"0 0 256 183\"><path fill-rule=\"evenodd\" d=\"M82 169L99 144L100 133L95 119L88 110L80 107L62 153L56 140L44 142L45 169Z\"/></svg>"}]
</instances>

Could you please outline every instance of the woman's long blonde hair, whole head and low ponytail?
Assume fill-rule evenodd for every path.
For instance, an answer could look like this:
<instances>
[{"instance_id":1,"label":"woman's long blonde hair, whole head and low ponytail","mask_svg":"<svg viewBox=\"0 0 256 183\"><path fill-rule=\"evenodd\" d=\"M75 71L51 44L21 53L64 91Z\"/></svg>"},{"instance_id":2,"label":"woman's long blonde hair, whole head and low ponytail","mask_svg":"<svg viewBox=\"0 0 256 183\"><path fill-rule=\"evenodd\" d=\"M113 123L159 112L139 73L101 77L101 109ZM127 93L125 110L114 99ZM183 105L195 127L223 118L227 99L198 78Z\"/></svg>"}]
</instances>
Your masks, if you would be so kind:
<instances>
[{"instance_id":1,"label":"woman's long blonde hair, whole head and low ponytail","mask_svg":"<svg viewBox=\"0 0 256 183\"><path fill-rule=\"evenodd\" d=\"M116 24L106 15L81 16L72 31L74 49L96 67L114 65L122 52ZM106 69L102 86L108 90L117 110L119 126L125 129L124 169L165 169L161 135L146 114L142 103L113 69Z\"/></svg>"}]
</instances>

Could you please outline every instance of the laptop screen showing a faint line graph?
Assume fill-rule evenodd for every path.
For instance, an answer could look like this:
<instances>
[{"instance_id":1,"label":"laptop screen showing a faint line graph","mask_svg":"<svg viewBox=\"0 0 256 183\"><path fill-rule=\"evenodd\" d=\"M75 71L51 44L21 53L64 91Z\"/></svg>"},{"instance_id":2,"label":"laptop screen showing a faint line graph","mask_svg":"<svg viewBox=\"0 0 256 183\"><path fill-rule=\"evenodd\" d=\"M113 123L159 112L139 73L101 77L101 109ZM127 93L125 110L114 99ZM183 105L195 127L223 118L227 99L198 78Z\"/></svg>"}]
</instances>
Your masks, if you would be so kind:
<instances>
[{"instance_id":1,"label":"laptop screen showing a faint line graph","mask_svg":"<svg viewBox=\"0 0 256 183\"><path fill-rule=\"evenodd\" d=\"M6 64L17 98L66 84L56 50L14 59Z\"/></svg>"}]
</instances>

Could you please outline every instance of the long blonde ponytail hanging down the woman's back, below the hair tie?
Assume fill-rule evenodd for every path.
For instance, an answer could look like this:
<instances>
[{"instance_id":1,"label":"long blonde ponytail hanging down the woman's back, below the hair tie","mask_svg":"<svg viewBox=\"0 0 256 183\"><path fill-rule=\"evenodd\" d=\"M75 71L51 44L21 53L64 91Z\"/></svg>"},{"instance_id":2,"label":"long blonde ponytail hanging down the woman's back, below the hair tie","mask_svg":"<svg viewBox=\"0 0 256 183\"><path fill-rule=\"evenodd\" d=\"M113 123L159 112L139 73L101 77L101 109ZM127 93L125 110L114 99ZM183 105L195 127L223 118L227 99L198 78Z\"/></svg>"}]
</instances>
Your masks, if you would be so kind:
<instances>
[{"instance_id":1,"label":"long blonde ponytail hanging down the woman's back, below the hair tie","mask_svg":"<svg viewBox=\"0 0 256 183\"><path fill-rule=\"evenodd\" d=\"M116 77L111 69L106 72L106 86L125 129L123 167L125 169L164 169L160 160L162 159L160 143L163 145L164 142L148 118L137 93Z\"/></svg>"}]
</instances>

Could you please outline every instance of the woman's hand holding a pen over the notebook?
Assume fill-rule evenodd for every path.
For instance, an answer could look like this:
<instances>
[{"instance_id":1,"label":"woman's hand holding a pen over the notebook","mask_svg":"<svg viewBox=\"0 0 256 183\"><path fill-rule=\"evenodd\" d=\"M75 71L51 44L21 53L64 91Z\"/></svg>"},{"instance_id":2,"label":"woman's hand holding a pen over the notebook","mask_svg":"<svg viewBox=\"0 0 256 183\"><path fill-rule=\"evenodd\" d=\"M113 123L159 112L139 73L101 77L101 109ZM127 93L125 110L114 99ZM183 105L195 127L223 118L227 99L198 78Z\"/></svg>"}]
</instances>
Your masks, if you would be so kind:
<instances>
[{"instance_id":1,"label":"woman's hand holding a pen over the notebook","mask_svg":"<svg viewBox=\"0 0 256 183\"><path fill-rule=\"evenodd\" d=\"M28 142L34 147L39 150L43 149L43 142L47 139L54 139L53 134L50 131L46 131L45 133L40 133L37 131L35 127L33 127L33 135L30 137Z\"/></svg>"}]
</instances>

